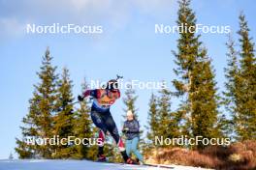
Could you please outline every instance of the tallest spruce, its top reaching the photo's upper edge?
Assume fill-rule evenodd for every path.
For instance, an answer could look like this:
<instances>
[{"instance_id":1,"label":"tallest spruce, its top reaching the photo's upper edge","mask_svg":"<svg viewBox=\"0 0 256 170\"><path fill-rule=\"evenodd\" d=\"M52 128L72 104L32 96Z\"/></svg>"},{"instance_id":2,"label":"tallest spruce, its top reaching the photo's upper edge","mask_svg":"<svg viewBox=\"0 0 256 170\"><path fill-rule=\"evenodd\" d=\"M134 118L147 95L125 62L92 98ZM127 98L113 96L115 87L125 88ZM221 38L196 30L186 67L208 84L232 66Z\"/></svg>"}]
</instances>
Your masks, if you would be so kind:
<instances>
[{"instance_id":1,"label":"tallest spruce, its top reaching the photo's upper edge","mask_svg":"<svg viewBox=\"0 0 256 170\"><path fill-rule=\"evenodd\" d=\"M179 1L179 10L178 10L178 18L177 25L187 27L195 27L196 18L195 14L189 8L190 1L182 0ZM179 39L177 40L177 48L178 51L173 51L176 60L175 63L177 65L174 70L178 79L173 80L173 84L176 88L176 92L174 93L177 98L181 98L181 103L179 105L179 109L177 110L179 113L182 113L182 125L180 126L180 130L183 135L188 135L192 137L192 116L191 116L191 103L189 100L189 93L191 92L190 86L192 84L192 70L195 65L196 57L199 50L199 35L196 35L192 31L191 32L180 32Z\"/></svg>"}]
</instances>

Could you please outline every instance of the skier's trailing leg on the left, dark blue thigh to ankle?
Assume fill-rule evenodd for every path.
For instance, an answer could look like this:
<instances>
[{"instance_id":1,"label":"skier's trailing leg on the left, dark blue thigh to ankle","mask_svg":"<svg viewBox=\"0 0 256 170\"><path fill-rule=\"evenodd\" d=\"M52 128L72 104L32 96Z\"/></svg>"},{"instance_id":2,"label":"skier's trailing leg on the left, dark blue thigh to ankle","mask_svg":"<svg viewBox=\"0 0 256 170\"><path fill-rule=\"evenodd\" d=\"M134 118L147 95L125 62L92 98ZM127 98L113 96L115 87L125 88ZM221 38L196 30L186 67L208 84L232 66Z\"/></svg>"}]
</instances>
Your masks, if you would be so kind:
<instances>
[{"instance_id":1,"label":"skier's trailing leg on the left, dark blue thigh to ankle","mask_svg":"<svg viewBox=\"0 0 256 170\"><path fill-rule=\"evenodd\" d=\"M104 142L105 142L105 136L107 133L107 128L104 124L103 118L101 117L101 115L96 112L96 111L91 111L91 120L94 123L94 125L97 128L100 128L99 130L99 148L98 148L98 156L103 156L104 155Z\"/></svg>"}]
</instances>

